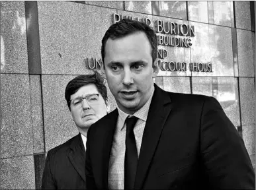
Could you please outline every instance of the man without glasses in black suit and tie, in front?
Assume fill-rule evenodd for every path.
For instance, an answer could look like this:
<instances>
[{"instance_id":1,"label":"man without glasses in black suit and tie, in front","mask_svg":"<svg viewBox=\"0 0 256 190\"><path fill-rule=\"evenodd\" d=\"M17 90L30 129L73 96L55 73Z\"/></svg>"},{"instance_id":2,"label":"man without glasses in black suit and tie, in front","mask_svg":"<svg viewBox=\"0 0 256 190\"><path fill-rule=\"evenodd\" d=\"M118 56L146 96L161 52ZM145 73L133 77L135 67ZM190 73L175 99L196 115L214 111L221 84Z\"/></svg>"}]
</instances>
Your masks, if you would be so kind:
<instances>
[{"instance_id":1,"label":"man without glasses in black suit and tie, in front","mask_svg":"<svg viewBox=\"0 0 256 190\"><path fill-rule=\"evenodd\" d=\"M118 108L88 131L87 189L255 188L243 140L218 101L153 84L159 65L149 26L112 24L101 55Z\"/></svg>"}]
</instances>

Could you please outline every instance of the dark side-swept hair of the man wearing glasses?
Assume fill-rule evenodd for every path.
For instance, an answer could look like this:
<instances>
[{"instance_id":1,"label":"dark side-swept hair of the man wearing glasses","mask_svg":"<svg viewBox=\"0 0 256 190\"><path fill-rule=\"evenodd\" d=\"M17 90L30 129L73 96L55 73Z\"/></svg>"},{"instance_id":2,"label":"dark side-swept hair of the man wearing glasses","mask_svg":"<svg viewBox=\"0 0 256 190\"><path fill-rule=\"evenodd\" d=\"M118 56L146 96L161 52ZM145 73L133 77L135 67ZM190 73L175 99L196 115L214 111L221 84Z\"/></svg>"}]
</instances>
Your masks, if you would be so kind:
<instances>
[{"instance_id":1,"label":"dark side-swept hair of the man wearing glasses","mask_svg":"<svg viewBox=\"0 0 256 190\"><path fill-rule=\"evenodd\" d=\"M79 88L88 84L95 84L98 92L103 96L103 99L108 100L107 88L105 86L105 80L101 75L95 71L91 75L79 75L75 79L70 80L65 87L65 100L67 101L67 106L70 110L70 96L75 94Z\"/></svg>"}]
</instances>

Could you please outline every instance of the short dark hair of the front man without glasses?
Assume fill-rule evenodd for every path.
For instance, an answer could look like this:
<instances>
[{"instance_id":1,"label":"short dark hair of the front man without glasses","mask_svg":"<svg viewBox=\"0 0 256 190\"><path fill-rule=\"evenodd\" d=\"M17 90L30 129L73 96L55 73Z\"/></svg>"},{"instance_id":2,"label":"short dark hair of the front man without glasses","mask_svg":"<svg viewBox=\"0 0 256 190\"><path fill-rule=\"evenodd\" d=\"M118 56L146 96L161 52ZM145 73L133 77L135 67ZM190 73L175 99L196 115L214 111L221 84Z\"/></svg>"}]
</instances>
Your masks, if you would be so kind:
<instances>
[{"instance_id":1,"label":"short dark hair of the front man without glasses","mask_svg":"<svg viewBox=\"0 0 256 190\"><path fill-rule=\"evenodd\" d=\"M108 38L114 40L128 36L129 34L134 34L135 32L144 32L146 34L149 40L149 44L151 46L152 61L155 61L155 59L157 59L157 36L155 35L155 31L143 22L125 18L120 20L120 22L112 24L108 28L107 32L103 37L103 40L101 41L101 58L103 64L105 57L105 46Z\"/></svg>"}]
</instances>

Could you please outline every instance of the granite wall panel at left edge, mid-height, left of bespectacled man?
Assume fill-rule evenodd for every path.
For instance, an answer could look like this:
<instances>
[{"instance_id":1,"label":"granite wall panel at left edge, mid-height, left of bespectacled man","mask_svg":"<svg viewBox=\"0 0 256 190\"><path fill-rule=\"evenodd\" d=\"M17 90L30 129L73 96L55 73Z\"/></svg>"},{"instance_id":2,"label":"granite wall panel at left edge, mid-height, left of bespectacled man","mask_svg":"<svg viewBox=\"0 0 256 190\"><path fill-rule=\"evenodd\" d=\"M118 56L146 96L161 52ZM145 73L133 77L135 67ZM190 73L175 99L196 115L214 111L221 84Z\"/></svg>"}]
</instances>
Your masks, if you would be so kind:
<instances>
[{"instance_id":1,"label":"granite wall panel at left edge, mid-height, left of bespectacled man","mask_svg":"<svg viewBox=\"0 0 256 190\"><path fill-rule=\"evenodd\" d=\"M33 153L28 75L1 74L1 158Z\"/></svg>"}]
</instances>

